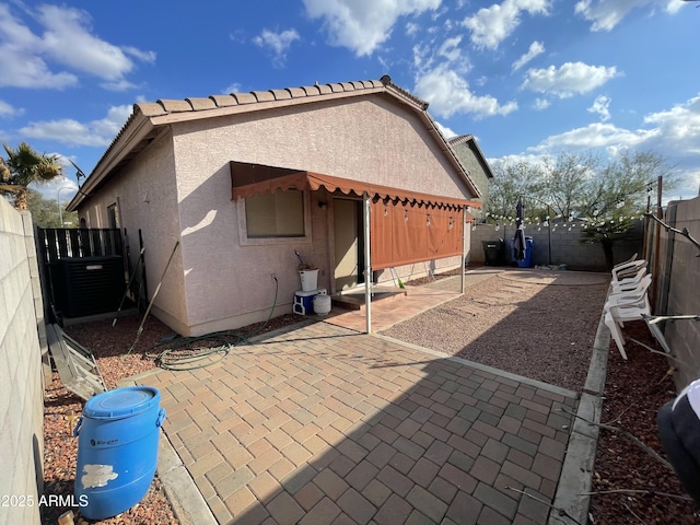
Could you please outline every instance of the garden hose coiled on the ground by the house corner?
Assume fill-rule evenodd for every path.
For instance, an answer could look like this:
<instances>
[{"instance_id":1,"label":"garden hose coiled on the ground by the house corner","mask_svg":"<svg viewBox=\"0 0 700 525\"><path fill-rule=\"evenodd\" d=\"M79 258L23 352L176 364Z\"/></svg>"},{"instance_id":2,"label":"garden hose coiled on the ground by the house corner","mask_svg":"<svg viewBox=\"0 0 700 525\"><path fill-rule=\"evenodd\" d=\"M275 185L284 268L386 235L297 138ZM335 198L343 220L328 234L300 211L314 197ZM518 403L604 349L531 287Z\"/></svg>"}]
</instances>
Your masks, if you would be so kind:
<instances>
[{"instance_id":1,"label":"garden hose coiled on the ground by the house corner","mask_svg":"<svg viewBox=\"0 0 700 525\"><path fill-rule=\"evenodd\" d=\"M279 282L275 277L275 300L270 313L260 326L248 332L223 330L205 334L198 337L177 337L171 341L160 342L145 352L148 358L165 370L186 371L210 366L225 358L232 348L247 343L250 338L260 334L272 318L277 306ZM166 348L162 349L162 347Z\"/></svg>"}]
</instances>

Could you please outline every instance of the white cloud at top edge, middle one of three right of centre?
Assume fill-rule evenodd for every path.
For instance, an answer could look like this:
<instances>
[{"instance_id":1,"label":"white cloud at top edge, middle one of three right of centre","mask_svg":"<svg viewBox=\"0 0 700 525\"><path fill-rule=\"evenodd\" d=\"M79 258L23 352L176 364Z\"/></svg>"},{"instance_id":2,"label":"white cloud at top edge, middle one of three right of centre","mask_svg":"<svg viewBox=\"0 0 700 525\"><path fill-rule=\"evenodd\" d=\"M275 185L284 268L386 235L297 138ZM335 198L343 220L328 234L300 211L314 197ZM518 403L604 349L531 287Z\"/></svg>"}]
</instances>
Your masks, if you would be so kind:
<instances>
[{"instance_id":1,"label":"white cloud at top edge, middle one of three right of centre","mask_svg":"<svg viewBox=\"0 0 700 525\"><path fill-rule=\"evenodd\" d=\"M471 31L471 42L479 48L495 49L521 23L521 13L549 14L550 0L504 0L490 8L481 8L464 20Z\"/></svg>"}]
</instances>

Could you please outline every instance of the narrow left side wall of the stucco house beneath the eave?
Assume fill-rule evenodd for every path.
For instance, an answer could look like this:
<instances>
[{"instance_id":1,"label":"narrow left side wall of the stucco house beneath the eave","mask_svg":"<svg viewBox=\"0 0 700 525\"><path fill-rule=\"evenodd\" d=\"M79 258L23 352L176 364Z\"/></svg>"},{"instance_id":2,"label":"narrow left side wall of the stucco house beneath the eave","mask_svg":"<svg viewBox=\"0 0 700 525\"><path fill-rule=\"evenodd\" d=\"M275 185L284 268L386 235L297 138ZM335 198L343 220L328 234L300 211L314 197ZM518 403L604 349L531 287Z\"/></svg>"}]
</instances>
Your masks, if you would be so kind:
<instances>
[{"instance_id":1,"label":"narrow left side wall of the stucco house beneath the eave","mask_svg":"<svg viewBox=\"0 0 700 525\"><path fill-rule=\"evenodd\" d=\"M107 208L117 205L119 228L126 229L131 265L139 258L139 230L143 237L149 299L153 296L167 259L180 235L180 220L175 184L175 159L172 135L166 131L154 140L144 154L126 168L81 209L89 228L109 228ZM206 255L206 254L202 254ZM153 314L174 330L186 334L187 307L185 273L180 247L163 278L153 305Z\"/></svg>"}]
</instances>

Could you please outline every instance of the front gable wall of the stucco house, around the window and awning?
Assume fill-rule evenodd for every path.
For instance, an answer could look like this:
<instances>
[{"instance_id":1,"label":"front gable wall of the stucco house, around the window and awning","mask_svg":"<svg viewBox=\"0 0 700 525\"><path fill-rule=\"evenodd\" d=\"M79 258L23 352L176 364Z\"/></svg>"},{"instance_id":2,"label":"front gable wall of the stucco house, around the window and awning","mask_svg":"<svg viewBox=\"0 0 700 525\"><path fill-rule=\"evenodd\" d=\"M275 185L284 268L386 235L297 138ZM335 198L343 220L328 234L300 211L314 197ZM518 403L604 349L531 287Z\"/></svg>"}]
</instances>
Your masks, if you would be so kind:
<instances>
[{"instance_id":1,"label":"front gable wall of the stucco house, around the window and awning","mask_svg":"<svg viewBox=\"0 0 700 525\"><path fill-rule=\"evenodd\" d=\"M378 95L179 122L173 135L187 317L194 334L266 318L276 298L271 275L279 283L275 315L290 312L294 291L301 288L295 248L319 267L318 287L331 288L328 192L322 188L305 195L310 240L242 245L236 207L243 203L231 200L229 161L471 198L424 121Z\"/></svg>"}]
</instances>

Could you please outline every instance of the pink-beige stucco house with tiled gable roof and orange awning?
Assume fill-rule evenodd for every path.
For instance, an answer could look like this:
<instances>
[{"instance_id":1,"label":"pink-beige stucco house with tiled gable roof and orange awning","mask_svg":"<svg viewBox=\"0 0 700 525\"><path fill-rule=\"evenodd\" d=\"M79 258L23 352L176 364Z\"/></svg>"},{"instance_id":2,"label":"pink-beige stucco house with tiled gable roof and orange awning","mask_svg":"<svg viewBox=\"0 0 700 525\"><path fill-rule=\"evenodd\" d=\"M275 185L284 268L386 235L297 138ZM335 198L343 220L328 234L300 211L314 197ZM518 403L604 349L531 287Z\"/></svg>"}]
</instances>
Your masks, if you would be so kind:
<instances>
[{"instance_id":1,"label":"pink-beige stucco house with tiled gable roof and orange awning","mask_svg":"<svg viewBox=\"0 0 700 525\"><path fill-rule=\"evenodd\" d=\"M68 209L142 234L151 312L185 336L291 312L295 250L329 294L456 268L489 168L427 108L388 75L138 103Z\"/></svg>"}]
</instances>

